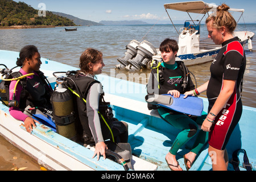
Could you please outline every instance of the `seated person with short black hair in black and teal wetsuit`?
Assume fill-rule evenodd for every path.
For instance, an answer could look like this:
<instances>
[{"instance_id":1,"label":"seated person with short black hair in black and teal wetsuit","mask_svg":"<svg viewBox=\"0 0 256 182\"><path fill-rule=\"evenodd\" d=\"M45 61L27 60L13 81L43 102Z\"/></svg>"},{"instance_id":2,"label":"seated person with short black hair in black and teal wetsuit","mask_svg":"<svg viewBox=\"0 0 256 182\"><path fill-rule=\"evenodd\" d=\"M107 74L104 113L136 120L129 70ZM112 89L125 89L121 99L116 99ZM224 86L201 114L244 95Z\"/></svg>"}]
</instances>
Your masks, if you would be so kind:
<instances>
[{"instance_id":1,"label":"seated person with short black hair in black and teal wetsuit","mask_svg":"<svg viewBox=\"0 0 256 182\"><path fill-rule=\"evenodd\" d=\"M166 39L160 44L160 52L162 55L163 62L158 68L163 73L163 80L158 81L159 76L156 69L152 69L150 78L147 84L147 92L155 94L172 94L174 97L180 97L180 93L183 94L187 90L195 89L195 86L189 76L188 86L183 89L184 72L180 68L180 64L175 61L179 46L176 40ZM153 65L154 67L154 65ZM158 70L158 71L159 71ZM176 160L177 151L193 138L197 133L197 139L192 147L192 150L185 154L184 161L187 169L191 168L196 155L199 153L201 148L207 142L207 133L205 131L198 131L198 125L201 125L206 117L195 118L195 121L183 113L179 113L174 110L166 109L165 107L159 107L158 113L164 121L170 123L172 126L180 129L180 133L174 140L170 151L166 155L166 162L171 170L181 171L181 167ZM197 132L198 131L198 132Z\"/></svg>"}]
</instances>

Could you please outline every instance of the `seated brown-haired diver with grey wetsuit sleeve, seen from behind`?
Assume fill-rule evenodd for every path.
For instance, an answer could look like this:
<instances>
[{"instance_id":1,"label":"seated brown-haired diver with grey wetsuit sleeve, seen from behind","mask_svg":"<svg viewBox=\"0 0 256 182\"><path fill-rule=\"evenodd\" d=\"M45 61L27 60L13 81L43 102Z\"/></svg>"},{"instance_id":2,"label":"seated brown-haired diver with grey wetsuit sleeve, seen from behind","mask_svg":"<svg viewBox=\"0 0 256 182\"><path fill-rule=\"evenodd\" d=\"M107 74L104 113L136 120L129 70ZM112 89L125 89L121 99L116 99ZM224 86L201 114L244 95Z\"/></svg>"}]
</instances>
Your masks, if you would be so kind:
<instances>
[{"instance_id":1,"label":"seated brown-haired diver with grey wetsuit sleeve, seen from behind","mask_svg":"<svg viewBox=\"0 0 256 182\"><path fill-rule=\"evenodd\" d=\"M77 109L83 130L83 139L85 144L90 142L90 140L94 140L96 148L93 158L97 155L97 160L100 158L100 155L103 155L104 159L106 158L105 152L108 147L105 144L105 140L112 138L109 129L105 123L102 123L98 114L101 106L101 95L104 91L101 82L97 81L95 76L101 74L104 66L102 53L96 49L88 48L80 56L80 71L72 76L82 97L86 100L85 105L84 101L76 97ZM112 125L115 142L127 143L127 123L112 121L110 124Z\"/></svg>"}]
</instances>

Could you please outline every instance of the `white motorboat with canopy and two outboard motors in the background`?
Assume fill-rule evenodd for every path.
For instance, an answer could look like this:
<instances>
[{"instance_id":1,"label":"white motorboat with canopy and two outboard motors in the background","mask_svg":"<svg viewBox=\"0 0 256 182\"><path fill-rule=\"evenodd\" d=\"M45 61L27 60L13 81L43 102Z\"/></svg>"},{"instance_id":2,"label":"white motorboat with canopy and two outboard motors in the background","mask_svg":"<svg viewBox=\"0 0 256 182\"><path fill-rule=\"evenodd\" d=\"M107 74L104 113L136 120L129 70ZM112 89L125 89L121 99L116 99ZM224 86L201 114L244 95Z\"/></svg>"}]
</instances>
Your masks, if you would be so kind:
<instances>
[{"instance_id":1,"label":"white motorboat with canopy and two outboard motors in the background","mask_svg":"<svg viewBox=\"0 0 256 182\"><path fill-rule=\"evenodd\" d=\"M213 5L210 3L205 3L203 1L191 1L191 2L177 2L177 3L167 3L164 4L164 9L168 14L168 10L177 10L184 11L189 15L190 20L186 20L184 26L178 31L179 35L179 51L177 52L177 61L184 61L185 65L196 65L206 63L208 61L212 61L216 56L218 51L220 51L221 45L215 45L212 40L204 40L204 42L200 42L200 26L201 21L204 17L208 17L213 12L216 12L217 5ZM243 9L229 9L229 11L236 11L241 13L241 16L245 10ZM202 17L200 20L193 19L191 13L201 14ZM171 16L168 14L171 22ZM238 22L239 20L237 20ZM241 39L242 43L245 45L248 43L248 48L251 50L253 47L251 45L251 40L253 39L254 32L250 31L238 31L234 32L234 36L238 36ZM141 45L138 43L138 45ZM138 46L137 45L137 46ZM134 44L133 44L134 46ZM126 47L129 51L129 46ZM161 61L160 52L153 48L152 46L148 48L148 51L153 52L155 54L151 57L151 60ZM155 51L157 50L157 51ZM127 52L128 52L127 51ZM126 53L127 55L127 53ZM146 54L147 55L147 54ZM148 54L148 57L151 55ZM129 71L138 71L142 68L148 68L148 62L144 61L144 59L137 59L137 57L124 57L123 59L118 59L119 65L116 66L118 69L126 68Z\"/></svg>"}]
</instances>

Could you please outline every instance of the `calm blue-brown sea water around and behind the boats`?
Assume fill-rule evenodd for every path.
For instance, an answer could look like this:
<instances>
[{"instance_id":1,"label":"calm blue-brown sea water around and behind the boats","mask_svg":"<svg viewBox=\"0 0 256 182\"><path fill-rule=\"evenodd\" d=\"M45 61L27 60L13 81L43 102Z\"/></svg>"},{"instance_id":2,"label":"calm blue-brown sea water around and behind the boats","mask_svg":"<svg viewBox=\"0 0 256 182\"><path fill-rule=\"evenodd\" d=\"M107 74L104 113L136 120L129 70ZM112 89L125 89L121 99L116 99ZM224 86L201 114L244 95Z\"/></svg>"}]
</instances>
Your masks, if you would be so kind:
<instances>
[{"instance_id":1,"label":"calm blue-brown sea water around and behind the boats","mask_svg":"<svg viewBox=\"0 0 256 182\"><path fill-rule=\"evenodd\" d=\"M181 27L182 25L178 25L176 28L180 30ZM256 32L256 24L238 24L236 31L245 30ZM202 24L201 40L207 38L207 35L207 28ZM72 32L65 32L64 27L0 30L0 49L19 52L23 46L34 44L38 47L42 57L78 68L81 53L86 48L96 48L104 55L106 65L103 70L104 73L110 75L110 72L115 71L115 73L125 73L129 78L129 72L114 70L115 65L119 64L117 59L125 56L126 45L134 39L139 42L147 40L155 48L158 48L166 38L175 40L178 38L175 28L171 25L90 26L77 27L77 31ZM253 48L254 51L250 52L247 45L245 46L247 68L244 76L242 101L243 105L256 107L256 99L254 98L256 88L256 38L253 39ZM189 71L196 76L198 85L209 79L209 66L210 63L205 63L188 67ZM139 74L141 73L147 75L150 71L143 70L139 72ZM145 84L146 81L147 78L142 80L142 84ZM204 94L202 96L205 97ZM1 140L0 138L0 145ZM4 146L6 145L4 144Z\"/></svg>"}]
</instances>

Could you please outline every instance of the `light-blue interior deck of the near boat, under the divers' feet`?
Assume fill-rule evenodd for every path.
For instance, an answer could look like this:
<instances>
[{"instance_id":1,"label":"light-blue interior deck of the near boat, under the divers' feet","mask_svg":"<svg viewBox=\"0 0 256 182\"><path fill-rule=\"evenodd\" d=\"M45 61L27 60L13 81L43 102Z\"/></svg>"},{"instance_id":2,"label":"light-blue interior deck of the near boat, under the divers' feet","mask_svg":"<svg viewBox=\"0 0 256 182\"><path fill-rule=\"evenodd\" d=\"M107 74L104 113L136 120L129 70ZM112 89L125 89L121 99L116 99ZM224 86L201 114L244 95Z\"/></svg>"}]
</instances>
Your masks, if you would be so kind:
<instances>
[{"instance_id":1,"label":"light-blue interior deck of the near boat, under the divers' feet","mask_svg":"<svg viewBox=\"0 0 256 182\"><path fill-rule=\"evenodd\" d=\"M106 94L105 100L112 101L115 117L129 124L129 143L131 144L133 155L156 164L160 171L170 170L166 164L165 156L180 130L164 122L159 117L157 111L149 111L146 102L134 101L129 98L118 98L116 96L115 98L117 100L114 99L113 95ZM204 110L207 110L207 100L205 98L203 100ZM130 103L131 101L133 104ZM118 106L120 104L122 104L122 107ZM244 148L250 163L254 167L256 163L255 142L251 139L256 137L256 134L253 132L256 124L250 125L251 127L248 126L247 121L250 121L251 116L256 117L256 110L252 107L243 106L243 115L240 123L234 130L226 148L229 153L229 161L232 160L234 150ZM177 161L183 170L186 170L183 155L191 150L195 138L196 136L189 140L177 153ZM242 154L239 155L239 159L243 161ZM228 169L230 171L234 170L231 163L229 163ZM245 168L242 168L242 164L240 164L240 169L241 171L245 170ZM197 156L191 170L212 170L212 161L208 156L208 144L205 144L200 155Z\"/></svg>"}]
</instances>

